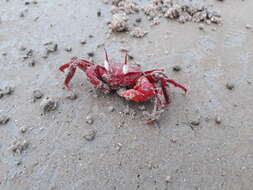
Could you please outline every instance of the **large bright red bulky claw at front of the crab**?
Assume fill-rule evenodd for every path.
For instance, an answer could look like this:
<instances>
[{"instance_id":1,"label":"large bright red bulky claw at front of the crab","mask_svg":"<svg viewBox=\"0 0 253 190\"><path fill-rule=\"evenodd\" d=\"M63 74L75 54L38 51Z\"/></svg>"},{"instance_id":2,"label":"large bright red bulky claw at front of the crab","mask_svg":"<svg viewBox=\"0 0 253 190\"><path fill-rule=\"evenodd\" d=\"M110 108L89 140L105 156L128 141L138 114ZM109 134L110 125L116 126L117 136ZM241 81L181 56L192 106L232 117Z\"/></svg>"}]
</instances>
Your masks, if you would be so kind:
<instances>
[{"instance_id":1,"label":"large bright red bulky claw at front of the crab","mask_svg":"<svg viewBox=\"0 0 253 190\"><path fill-rule=\"evenodd\" d=\"M127 100L141 102L153 97L155 89L154 85L145 76L142 76L133 89L123 90L119 94Z\"/></svg>"}]
</instances>

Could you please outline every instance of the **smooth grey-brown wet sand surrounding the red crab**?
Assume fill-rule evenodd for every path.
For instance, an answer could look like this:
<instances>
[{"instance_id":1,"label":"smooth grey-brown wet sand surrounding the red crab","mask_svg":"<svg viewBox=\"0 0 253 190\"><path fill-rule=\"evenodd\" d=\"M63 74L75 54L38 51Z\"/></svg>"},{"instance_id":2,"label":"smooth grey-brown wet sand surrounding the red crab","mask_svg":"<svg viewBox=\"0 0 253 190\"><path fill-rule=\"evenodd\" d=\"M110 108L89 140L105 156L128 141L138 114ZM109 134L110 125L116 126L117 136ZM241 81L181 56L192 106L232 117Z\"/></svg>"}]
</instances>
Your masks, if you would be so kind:
<instances>
[{"instance_id":1,"label":"smooth grey-brown wet sand surrounding the red crab","mask_svg":"<svg viewBox=\"0 0 253 190\"><path fill-rule=\"evenodd\" d=\"M0 189L252 189L253 32L246 25L253 26L253 2L202 3L213 4L220 26L200 30L163 18L150 26L140 12L129 23L141 17L148 34L136 39L129 32L108 37L111 6L102 1L0 2L0 88L14 87L0 98L0 113L10 118L0 125ZM47 42L58 48L45 59ZM152 102L104 95L82 72L71 83L77 99L66 98L58 67L89 52L102 64L104 47L115 61L126 47L131 63L163 68L189 88L186 96L170 89L160 128L141 120L140 105L150 111ZM175 65L182 70L174 72ZM36 89L43 97L34 101ZM58 107L43 114L45 97Z\"/></svg>"}]
</instances>

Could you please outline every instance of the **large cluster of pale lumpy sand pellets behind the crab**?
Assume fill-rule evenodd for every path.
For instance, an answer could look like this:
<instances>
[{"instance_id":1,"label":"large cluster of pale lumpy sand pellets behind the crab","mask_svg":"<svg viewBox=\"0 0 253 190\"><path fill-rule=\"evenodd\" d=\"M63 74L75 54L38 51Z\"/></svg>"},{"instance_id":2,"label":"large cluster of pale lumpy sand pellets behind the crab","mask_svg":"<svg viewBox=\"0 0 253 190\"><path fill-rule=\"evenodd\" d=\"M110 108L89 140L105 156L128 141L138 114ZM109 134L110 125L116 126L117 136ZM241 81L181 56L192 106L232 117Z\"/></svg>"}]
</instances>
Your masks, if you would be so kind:
<instances>
[{"instance_id":1,"label":"large cluster of pale lumpy sand pellets behind the crab","mask_svg":"<svg viewBox=\"0 0 253 190\"><path fill-rule=\"evenodd\" d=\"M151 25L160 23L161 18L174 20L179 23L194 22L206 24L220 24L221 16L210 7L195 5L193 3L179 3L176 0L150 0L147 5L141 6L137 0L111 0L107 4L111 5L112 19L109 21L111 32L126 32L135 38L142 38L143 31L138 27L130 27L131 17L142 12ZM137 31L137 32L136 32ZM142 31L142 32L138 32ZM135 35L136 34L136 35Z\"/></svg>"}]
</instances>

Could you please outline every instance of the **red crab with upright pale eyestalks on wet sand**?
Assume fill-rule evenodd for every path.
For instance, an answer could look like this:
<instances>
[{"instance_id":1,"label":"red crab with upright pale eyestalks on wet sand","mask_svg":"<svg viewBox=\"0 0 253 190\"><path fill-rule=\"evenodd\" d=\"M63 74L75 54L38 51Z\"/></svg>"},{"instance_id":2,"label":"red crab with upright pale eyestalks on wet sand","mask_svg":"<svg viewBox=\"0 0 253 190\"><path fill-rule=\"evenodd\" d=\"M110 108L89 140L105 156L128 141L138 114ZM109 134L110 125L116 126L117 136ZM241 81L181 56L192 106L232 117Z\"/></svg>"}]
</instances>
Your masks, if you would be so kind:
<instances>
[{"instance_id":1,"label":"red crab with upright pale eyestalks on wet sand","mask_svg":"<svg viewBox=\"0 0 253 190\"><path fill-rule=\"evenodd\" d=\"M128 54L124 62L113 62L109 60L106 49L104 65L97 65L85 59L72 58L70 62L59 67L65 72L64 85L68 90L76 69L85 72L88 81L105 93L116 91L118 95L126 100L143 102L154 98L154 109L152 113L144 112L147 123L157 121L164 111L164 107L170 103L169 84L181 88L185 94L187 88L182 84L170 79L163 69L152 69L142 71L140 65L129 65Z\"/></svg>"}]
</instances>

